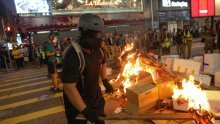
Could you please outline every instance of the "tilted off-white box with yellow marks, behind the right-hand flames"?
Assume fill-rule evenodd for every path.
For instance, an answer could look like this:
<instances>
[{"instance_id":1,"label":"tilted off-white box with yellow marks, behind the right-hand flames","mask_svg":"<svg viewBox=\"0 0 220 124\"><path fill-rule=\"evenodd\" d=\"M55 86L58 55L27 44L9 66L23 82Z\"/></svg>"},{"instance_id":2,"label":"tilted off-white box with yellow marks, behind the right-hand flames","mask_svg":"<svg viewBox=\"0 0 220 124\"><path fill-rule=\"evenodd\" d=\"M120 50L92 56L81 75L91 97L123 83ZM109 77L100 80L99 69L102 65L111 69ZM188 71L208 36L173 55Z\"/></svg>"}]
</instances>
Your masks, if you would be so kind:
<instances>
[{"instance_id":1,"label":"tilted off-white box with yellow marks, behind the right-hand flames","mask_svg":"<svg viewBox=\"0 0 220 124\"><path fill-rule=\"evenodd\" d=\"M174 59L173 71L185 74L199 74L201 63L193 60Z\"/></svg>"}]
</instances>

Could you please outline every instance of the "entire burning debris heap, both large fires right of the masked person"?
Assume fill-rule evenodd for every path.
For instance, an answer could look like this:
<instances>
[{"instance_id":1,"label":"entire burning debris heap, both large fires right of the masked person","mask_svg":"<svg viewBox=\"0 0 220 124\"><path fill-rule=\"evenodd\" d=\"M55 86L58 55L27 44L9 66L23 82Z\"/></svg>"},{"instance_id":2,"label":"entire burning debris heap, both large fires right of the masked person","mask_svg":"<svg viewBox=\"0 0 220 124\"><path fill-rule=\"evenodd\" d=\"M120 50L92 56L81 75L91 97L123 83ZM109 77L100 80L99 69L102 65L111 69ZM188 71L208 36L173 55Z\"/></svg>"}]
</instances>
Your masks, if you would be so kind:
<instances>
[{"instance_id":1,"label":"entire burning debris heap, both large fires right of the masked person","mask_svg":"<svg viewBox=\"0 0 220 124\"><path fill-rule=\"evenodd\" d=\"M119 56L122 65L121 71L118 74L117 79L111 80L114 85L116 84L116 86L118 86L118 96L126 93L126 89L129 89L129 93L126 93L126 95L129 96L133 93L133 96L137 99L137 106L143 105L144 102L142 100L143 103L140 103L140 99L144 97L148 98L148 96L143 96L143 93L147 91L141 91L141 89L143 90L144 87L149 86L142 84L144 81L140 80L142 78L150 77L147 79L147 82L150 82L158 88L158 93L156 93L156 91L154 92L154 94L159 95L159 98L155 97L157 100L172 97L173 108L193 113L195 123L214 123L214 116L210 109L206 93L202 92L200 85L195 85L193 76L190 76L188 81L184 79L181 86L174 85L175 82L177 82L176 79L178 79L178 76L173 72L170 72L165 65L155 60L152 56L149 56L146 53L137 52L133 48L133 44L129 44L121 52ZM172 86L167 88L168 85ZM168 93L169 89L171 89L171 92ZM137 90L137 92L135 90ZM161 93L164 94L164 92L169 95L161 96ZM156 99L151 102L155 103L155 101ZM129 101L127 102L129 103ZM132 102L134 103L135 100L132 100ZM149 106L149 104L146 104L146 106ZM139 108L137 108L137 110L139 110Z\"/></svg>"}]
</instances>

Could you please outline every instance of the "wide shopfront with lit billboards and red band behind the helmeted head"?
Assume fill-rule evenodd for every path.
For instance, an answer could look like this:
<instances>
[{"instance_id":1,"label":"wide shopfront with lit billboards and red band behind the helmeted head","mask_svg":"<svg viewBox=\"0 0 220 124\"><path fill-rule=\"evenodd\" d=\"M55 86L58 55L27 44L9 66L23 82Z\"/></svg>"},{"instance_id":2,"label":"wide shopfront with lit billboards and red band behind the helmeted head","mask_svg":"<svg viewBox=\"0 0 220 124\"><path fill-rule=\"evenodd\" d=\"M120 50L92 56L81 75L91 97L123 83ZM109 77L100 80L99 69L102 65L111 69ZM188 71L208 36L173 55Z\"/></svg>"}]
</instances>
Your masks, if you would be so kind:
<instances>
[{"instance_id":1,"label":"wide shopfront with lit billboards and red band behind the helmeted head","mask_svg":"<svg viewBox=\"0 0 220 124\"><path fill-rule=\"evenodd\" d=\"M144 30L145 19L151 17L144 0L15 0L15 6L21 32L77 28L83 13L96 13L118 30L125 25L142 25Z\"/></svg>"}]
</instances>

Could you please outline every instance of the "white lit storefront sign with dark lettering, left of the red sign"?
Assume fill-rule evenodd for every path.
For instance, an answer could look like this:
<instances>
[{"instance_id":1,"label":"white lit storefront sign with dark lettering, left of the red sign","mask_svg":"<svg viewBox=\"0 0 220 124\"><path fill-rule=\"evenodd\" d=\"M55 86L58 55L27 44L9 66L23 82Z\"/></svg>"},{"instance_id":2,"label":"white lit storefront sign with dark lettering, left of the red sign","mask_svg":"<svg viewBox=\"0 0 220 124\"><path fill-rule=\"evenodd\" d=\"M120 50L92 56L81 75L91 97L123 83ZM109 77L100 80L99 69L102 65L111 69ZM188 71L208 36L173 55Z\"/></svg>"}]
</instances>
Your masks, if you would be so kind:
<instances>
[{"instance_id":1,"label":"white lit storefront sign with dark lettering, left of the red sign","mask_svg":"<svg viewBox=\"0 0 220 124\"><path fill-rule=\"evenodd\" d=\"M188 7L188 2L162 0L162 7Z\"/></svg>"}]
</instances>

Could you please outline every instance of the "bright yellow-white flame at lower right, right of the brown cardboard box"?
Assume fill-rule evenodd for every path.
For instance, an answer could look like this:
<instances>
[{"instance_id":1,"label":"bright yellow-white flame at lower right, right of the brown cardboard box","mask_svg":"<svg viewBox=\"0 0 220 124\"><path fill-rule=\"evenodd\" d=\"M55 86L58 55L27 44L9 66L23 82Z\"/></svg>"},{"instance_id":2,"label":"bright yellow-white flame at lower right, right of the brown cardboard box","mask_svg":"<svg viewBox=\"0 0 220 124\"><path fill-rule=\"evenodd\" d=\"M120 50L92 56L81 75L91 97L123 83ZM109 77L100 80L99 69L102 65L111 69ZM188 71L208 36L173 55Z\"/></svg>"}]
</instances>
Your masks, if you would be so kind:
<instances>
[{"instance_id":1,"label":"bright yellow-white flame at lower right, right of the brown cardboard box","mask_svg":"<svg viewBox=\"0 0 220 124\"><path fill-rule=\"evenodd\" d=\"M199 85L195 85L194 77L189 76L189 80L182 80L182 89L178 86L173 87L173 99L184 99L188 102L189 108L202 111L211 111L206 93L203 92Z\"/></svg>"}]
</instances>

